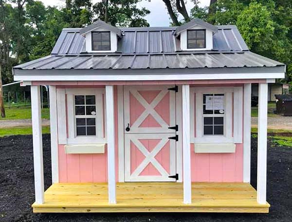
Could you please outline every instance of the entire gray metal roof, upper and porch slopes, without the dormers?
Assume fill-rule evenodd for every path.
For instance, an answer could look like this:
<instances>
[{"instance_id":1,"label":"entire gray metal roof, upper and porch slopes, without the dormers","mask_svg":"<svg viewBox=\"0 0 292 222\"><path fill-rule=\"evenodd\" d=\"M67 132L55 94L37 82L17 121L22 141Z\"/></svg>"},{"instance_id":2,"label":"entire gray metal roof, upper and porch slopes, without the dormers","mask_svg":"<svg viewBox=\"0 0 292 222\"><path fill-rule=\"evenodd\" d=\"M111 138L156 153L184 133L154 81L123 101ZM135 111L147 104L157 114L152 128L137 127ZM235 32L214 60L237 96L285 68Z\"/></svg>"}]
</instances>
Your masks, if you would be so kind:
<instances>
[{"instance_id":1,"label":"entire gray metal roof, upper and porch slopes, without the dormers","mask_svg":"<svg viewBox=\"0 0 292 222\"><path fill-rule=\"evenodd\" d=\"M213 34L212 51L182 51L179 38L175 36L177 27L121 28L117 51L108 53L86 52L81 29L63 29L51 55L14 67L14 74L30 75L37 70L44 75L54 70L59 74L60 70L110 73L122 72L122 69L128 73L142 69L161 73L170 69L171 72L179 70L179 73L192 70L196 73L199 68L201 71L221 68L225 73L250 71L252 68L261 72L285 71L284 64L250 52L236 26L217 28L218 32Z\"/></svg>"}]
</instances>

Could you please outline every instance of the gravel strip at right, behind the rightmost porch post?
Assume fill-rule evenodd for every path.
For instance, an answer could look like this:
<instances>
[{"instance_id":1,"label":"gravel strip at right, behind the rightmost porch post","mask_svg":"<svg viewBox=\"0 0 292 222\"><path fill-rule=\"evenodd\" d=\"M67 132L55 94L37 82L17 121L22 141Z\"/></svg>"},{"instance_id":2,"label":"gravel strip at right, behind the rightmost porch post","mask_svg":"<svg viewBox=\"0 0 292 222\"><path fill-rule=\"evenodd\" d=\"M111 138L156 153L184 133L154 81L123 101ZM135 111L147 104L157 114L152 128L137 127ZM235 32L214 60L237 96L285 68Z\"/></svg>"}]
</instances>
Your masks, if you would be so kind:
<instances>
[{"instance_id":1,"label":"gravel strip at right, behind the rightmost porch post","mask_svg":"<svg viewBox=\"0 0 292 222\"><path fill-rule=\"evenodd\" d=\"M252 127L257 127L257 117L252 117ZM292 117L268 117L268 128L292 130Z\"/></svg>"}]
</instances>

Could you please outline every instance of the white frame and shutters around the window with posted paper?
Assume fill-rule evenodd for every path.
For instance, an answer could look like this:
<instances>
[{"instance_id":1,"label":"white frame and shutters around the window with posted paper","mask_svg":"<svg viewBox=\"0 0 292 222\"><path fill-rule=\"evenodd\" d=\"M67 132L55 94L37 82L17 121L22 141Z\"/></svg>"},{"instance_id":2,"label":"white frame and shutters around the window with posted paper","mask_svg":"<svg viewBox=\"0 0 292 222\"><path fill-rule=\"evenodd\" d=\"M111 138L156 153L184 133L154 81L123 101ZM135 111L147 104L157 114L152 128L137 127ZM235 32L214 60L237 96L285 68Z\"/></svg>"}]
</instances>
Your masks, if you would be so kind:
<instances>
[{"instance_id":1,"label":"white frame and shutters around the window with posted paper","mask_svg":"<svg viewBox=\"0 0 292 222\"><path fill-rule=\"evenodd\" d=\"M192 87L190 92L191 143L242 143L242 86ZM203 94L224 94L225 110L223 136L203 135ZM232 101L232 96L234 101ZM194 132L195 127L196 137Z\"/></svg>"}]
</instances>

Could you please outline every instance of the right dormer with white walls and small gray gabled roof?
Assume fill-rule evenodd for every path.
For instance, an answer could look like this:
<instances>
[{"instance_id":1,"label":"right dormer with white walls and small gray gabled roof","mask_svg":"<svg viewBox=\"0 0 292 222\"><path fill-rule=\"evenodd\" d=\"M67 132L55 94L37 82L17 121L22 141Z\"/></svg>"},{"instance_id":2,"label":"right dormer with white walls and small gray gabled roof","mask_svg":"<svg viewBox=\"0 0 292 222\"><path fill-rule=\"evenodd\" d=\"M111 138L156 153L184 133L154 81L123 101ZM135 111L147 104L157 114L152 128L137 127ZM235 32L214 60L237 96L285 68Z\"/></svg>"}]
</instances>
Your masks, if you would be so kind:
<instances>
[{"instance_id":1,"label":"right dormer with white walls and small gray gabled roof","mask_svg":"<svg viewBox=\"0 0 292 222\"><path fill-rule=\"evenodd\" d=\"M176 28L175 34L181 41L182 51L201 51L213 49L213 34L218 28L199 18Z\"/></svg>"}]
</instances>

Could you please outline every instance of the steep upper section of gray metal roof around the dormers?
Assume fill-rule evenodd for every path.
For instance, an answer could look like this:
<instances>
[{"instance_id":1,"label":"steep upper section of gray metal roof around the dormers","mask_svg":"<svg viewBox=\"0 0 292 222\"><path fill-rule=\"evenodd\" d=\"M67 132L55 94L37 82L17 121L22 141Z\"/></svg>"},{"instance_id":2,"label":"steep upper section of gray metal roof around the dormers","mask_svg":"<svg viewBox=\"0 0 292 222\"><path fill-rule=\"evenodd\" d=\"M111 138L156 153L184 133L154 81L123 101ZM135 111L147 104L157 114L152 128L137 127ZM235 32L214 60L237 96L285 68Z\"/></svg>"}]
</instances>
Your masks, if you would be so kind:
<instances>
[{"instance_id":1,"label":"steep upper section of gray metal roof around the dormers","mask_svg":"<svg viewBox=\"0 0 292 222\"><path fill-rule=\"evenodd\" d=\"M213 34L213 51L248 51L243 38L234 25L217 26ZM175 37L177 27L121 28L123 36L118 39L119 53L178 52L180 40ZM63 29L52 54L80 54L85 51L85 37L80 29Z\"/></svg>"}]
</instances>

